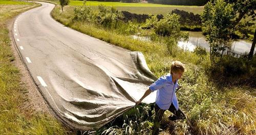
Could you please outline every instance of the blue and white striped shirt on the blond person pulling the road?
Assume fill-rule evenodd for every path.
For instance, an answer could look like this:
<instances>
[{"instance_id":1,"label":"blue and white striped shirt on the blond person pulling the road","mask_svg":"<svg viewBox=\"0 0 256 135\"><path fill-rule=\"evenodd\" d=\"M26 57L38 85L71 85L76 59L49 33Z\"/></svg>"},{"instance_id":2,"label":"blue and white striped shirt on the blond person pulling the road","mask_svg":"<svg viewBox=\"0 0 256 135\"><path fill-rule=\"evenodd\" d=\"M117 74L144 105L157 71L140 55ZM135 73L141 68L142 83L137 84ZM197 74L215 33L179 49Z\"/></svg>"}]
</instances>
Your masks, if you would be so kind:
<instances>
[{"instance_id":1,"label":"blue and white striped shirt on the blond person pulling the road","mask_svg":"<svg viewBox=\"0 0 256 135\"><path fill-rule=\"evenodd\" d=\"M175 109L178 110L178 100L175 94L175 90L178 88L178 79L176 83L173 83L172 75L163 75L158 80L150 85L150 90L157 91L156 104L162 110L168 110L170 105L173 103Z\"/></svg>"}]
</instances>

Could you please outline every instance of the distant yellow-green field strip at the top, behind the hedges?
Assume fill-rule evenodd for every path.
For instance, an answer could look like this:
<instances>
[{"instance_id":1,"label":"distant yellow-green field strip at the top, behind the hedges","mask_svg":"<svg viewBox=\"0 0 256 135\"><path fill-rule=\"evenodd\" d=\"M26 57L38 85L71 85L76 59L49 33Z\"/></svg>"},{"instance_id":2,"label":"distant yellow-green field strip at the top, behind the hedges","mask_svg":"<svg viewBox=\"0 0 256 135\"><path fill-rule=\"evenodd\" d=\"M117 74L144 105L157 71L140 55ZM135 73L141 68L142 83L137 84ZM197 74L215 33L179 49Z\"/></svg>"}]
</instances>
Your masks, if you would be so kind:
<instances>
[{"instance_id":1,"label":"distant yellow-green field strip at the top, behind the hedges","mask_svg":"<svg viewBox=\"0 0 256 135\"><path fill-rule=\"evenodd\" d=\"M58 1L51 1L58 2ZM82 6L82 1L70 1L70 6ZM162 14L165 15L172 12L174 9L184 10L187 12L192 12L194 14L200 14L203 12L203 6L176 6L176 5L162 5L162 4L148 4L148 3L120 3L120 2L96 2L88 1L87 5L90 6L112 6L119 11L129 11L137 14Z\"/></svg>"}]
</instances>

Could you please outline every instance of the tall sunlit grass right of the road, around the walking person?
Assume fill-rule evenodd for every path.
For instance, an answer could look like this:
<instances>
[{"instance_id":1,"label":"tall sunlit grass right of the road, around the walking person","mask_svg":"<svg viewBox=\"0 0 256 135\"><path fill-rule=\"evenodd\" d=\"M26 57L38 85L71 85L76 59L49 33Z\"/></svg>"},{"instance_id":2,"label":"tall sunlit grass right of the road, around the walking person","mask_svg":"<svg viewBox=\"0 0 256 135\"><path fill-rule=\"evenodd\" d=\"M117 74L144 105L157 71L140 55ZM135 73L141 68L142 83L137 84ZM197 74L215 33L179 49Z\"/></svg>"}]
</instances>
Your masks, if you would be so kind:
<instances>
[{"instance_id":1,"label":"tall sunlit grass right of the road, around the walking person","mask_svg":"<svg viewBox=\"0 0 256 135\"><path fill-rule=\"evenodd\" d=\"M176 48L176 53L169 55L164 43L134 40L129 35L122 35L116 30L105 29L92 22L74 21L72 6L66 6L63 12L60 11L60 6L56 6L51 15L74 30L132 51L141 51L148 67L157 77L169 72L172 61L185 63L186 72L180 80L183 88L177 93L177 97L187 119L177 121L173 127L167 120L171 113L166 111L162 134L255 134L255 89L246 85L225 86L212 82L205 70L210 66L209 54L197 55ZM122 116L124 119L117 126L105 125L97 132L150 134L152 117L147 121L141 121L140 118L134 120L132 118L138 118L134 115L134 110L125 113ZM129 115L126 117L126 114Z\"/></svg>"}]
</instances>

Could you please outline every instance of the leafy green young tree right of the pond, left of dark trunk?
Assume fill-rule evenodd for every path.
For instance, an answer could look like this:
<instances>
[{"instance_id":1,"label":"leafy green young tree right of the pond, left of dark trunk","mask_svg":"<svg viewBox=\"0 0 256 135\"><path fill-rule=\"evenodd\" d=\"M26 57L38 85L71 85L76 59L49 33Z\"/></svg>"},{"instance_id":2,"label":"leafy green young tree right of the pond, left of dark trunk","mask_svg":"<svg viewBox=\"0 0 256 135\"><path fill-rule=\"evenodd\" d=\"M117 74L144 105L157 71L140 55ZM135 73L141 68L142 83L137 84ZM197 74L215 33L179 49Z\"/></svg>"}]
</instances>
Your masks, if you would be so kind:
<instances>
[{"instance_id":1,"label":"leafy green young tree right of the pond, left of dark trunk","mask_svg":"<svg viewBox=\"0 0 256 135\"><path fill-rule=\"evenodd\" d=\"M221 60L225 49L229 46L233 31L233 5L224 0L208 2L201 14L202 31L210 44L210 60L217 63Z\"/></svg>"}]
</instances>

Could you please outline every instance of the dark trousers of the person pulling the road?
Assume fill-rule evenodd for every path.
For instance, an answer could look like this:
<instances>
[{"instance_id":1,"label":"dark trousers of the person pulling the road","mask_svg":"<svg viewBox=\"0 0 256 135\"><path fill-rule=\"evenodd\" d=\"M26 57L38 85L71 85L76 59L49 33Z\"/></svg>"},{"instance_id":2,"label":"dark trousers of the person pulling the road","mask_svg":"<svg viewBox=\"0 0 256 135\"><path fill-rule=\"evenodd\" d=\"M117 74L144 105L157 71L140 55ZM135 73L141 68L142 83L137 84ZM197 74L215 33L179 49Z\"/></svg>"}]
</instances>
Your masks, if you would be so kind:
<instances>
[{"instance_id":1,"label":"dark trousers of the person pulling the road","mask_svg":"<svg viewBox=\"0 0 256 135\"><path fill-rule=\"evenodd\" d=\"M153 135L157 135L159 132L159 127L160 127L160 122L162 120L163 117L163 113L166 110L162 110L159 108L159 106L155 103L155 118L154 118L154 126L153 126ZM172 117L169 117L171 120L182 120L185 119L186 116L185 114L182 112L182 110L178 109L178 111L175 109L174 104L172 103L168 109L170 112L172 112L174 115Z\"/></svg>"}]
</instances>

